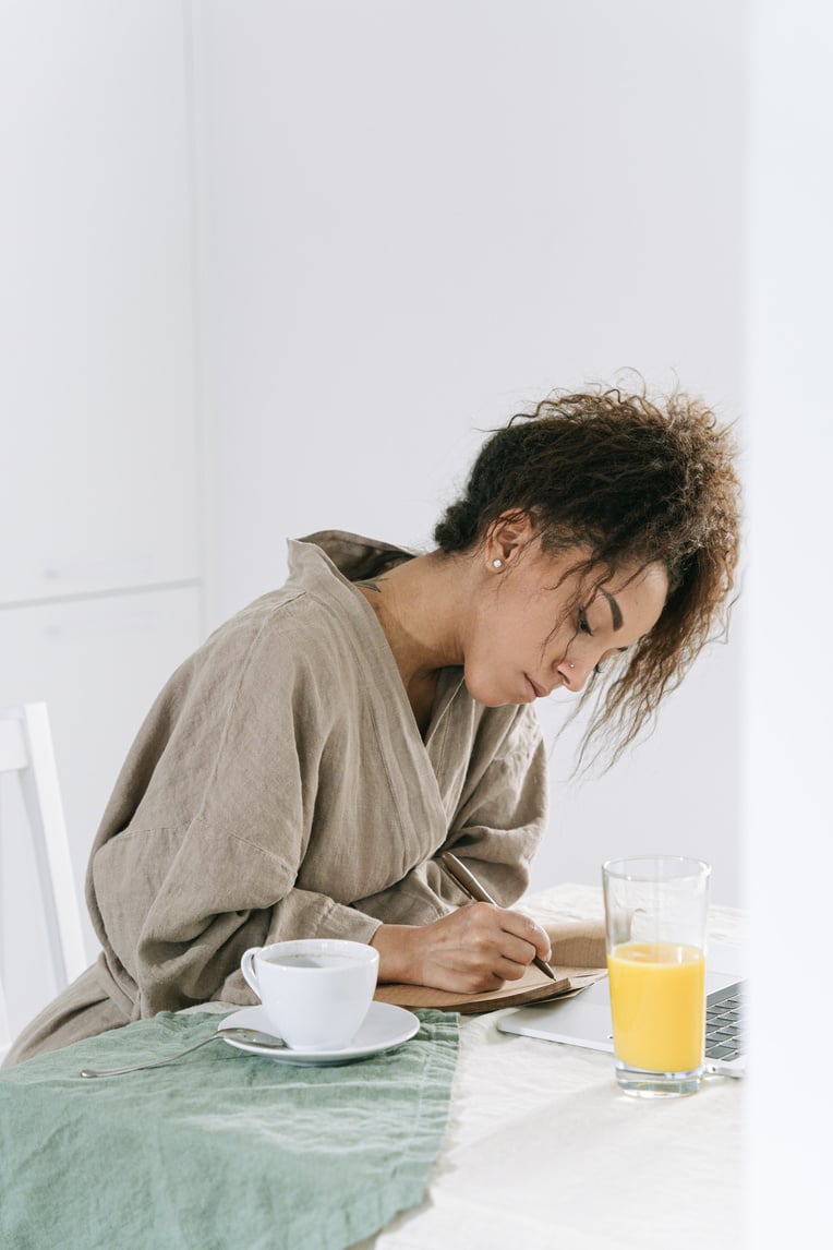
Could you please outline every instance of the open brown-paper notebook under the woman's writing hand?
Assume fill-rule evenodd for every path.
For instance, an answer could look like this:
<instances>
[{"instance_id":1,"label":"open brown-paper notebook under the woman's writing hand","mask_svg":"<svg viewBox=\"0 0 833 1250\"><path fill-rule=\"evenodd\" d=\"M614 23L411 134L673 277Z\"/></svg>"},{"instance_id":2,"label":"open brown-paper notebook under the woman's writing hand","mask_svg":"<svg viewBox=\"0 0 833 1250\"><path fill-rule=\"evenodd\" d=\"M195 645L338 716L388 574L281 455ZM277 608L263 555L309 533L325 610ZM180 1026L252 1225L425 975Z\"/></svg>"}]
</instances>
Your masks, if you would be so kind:
<instances>
[{"instance_id":1,"label":"open brown-paper notebook under the woman's writing hand","mask_svg":"<svg viewBox=\"0 0 833 1250\"><path fill-rule=\"evenodd\" d=\"M607 976L604 958L604 925L602 921L563 920L545 924L552 944L550 966L556 980L530 965L521 980L507 981L500 990L486 994L452 994L425 985L380 985L376 999L400 1008L440 1008L476 1015L497 1008L516 1008L525 1002L543 1002L577 994L602 976Z\"/></svg>"}]
</instances>

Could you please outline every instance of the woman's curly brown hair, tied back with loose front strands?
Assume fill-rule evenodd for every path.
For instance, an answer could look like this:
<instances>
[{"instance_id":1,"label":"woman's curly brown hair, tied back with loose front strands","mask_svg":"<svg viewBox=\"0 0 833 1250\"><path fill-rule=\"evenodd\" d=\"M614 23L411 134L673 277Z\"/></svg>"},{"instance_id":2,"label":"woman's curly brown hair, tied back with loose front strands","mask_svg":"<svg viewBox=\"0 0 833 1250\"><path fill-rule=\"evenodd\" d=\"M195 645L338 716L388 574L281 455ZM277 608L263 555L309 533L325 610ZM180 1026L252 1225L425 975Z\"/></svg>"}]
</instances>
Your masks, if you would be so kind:
<instances>
[{"instance_id":1,"label":"woman's curly brown hair, tied back with loose front strands","mask_svg":"<svg viewBox=\"0 0 833 1250\"><path fill-rule=\"evenodd\" d=\"M596 586L617 570L664 565L659 621L616 665L603 699L597 675L587 684L581 705L597 701L582 755L596 741L616 760L726 632L739 548L736 454L729 428L699 399L555 392L492 434L436 526L440 550L455 554L482 542L498 518L527 514L542 550L589 551L568 571Z\"/></svg>"}]
</instances>

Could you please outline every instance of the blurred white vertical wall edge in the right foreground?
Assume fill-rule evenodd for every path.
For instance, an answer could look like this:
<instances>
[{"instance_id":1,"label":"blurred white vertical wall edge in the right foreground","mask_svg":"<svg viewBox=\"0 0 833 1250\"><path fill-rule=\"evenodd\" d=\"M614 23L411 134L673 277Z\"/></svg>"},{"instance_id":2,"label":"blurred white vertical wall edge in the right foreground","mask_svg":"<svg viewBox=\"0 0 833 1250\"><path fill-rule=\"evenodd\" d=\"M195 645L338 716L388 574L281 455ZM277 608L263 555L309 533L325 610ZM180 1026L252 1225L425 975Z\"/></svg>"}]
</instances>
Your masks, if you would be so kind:
<instances>
[{"instance_id":1,"label":"blurred white vertical wall edge in the right foreground","mask_svg":"<svg viewBox=\"0 0 833 1250\"><path fill-rule=\"evenodd\" d=\"M833 1242L832 45L833 11L819 0L759 0L751 10L742 705L754 1059L744 1124L749 1250ZM809 1054L788 999L801 1004Z\"/></svg>"}]
</instances>

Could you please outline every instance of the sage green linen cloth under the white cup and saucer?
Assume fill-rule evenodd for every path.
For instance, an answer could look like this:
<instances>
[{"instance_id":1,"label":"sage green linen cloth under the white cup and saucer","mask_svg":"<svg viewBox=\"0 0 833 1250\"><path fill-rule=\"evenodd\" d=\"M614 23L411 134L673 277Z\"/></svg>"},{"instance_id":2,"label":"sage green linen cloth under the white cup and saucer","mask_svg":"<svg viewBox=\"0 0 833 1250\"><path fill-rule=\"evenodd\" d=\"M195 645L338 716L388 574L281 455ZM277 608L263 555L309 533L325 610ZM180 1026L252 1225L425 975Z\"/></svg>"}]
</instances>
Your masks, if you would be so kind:
<instances>
[{"instance_id":1,"label":"sage green linen cloth under the white cup and saucer","mask_svg":"<svg viewBox=\"0 0 833 1250\"><path fill-rule=\"evenodd\" d=\"M0 1246L343 1250L425 1196L448 1118L458 1018L417 1012L398 1050L297 1068L161 1012L0 1072Z\"/></svg>"}]
</instances>

